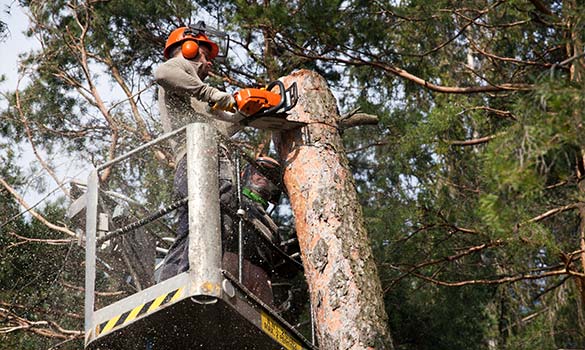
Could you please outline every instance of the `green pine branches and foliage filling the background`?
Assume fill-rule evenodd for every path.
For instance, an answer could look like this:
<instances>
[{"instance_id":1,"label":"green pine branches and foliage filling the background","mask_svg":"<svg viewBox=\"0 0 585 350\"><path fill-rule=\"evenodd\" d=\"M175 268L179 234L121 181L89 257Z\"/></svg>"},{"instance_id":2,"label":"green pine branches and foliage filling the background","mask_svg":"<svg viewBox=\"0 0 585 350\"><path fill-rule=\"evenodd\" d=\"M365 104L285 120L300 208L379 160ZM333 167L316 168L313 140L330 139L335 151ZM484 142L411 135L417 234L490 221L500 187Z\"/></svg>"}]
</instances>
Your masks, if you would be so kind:
<instances>
[{"instance_id":1,"label":"green pine branches and foliage filling the background","mask_svg":"<svg viewBox=\"0 0 585 350\"><path fill-rule=\"evenodd\" d=\"M152 71L168 33L199 19L231 38L215 86L305 68L327 79L342 115L379 116L343 142L397 349L585 347L582 2L19 3L41 49L23 58L28 82L2 97L0 348L78 337L68 332L81 321L48 302L82 313L71 286L83 257L52 155L89 166L160 135ZM243 137L251 149L263 138ZM33 167L15 162L24 148ZM132 166L155 183L173 164L160 148ZM123 186L119 175L102 181ZM62 186L63 199L23 207L32 180L41 193ZM37 215L14 218L26 209Z\"/></svg>"}]
</instances>

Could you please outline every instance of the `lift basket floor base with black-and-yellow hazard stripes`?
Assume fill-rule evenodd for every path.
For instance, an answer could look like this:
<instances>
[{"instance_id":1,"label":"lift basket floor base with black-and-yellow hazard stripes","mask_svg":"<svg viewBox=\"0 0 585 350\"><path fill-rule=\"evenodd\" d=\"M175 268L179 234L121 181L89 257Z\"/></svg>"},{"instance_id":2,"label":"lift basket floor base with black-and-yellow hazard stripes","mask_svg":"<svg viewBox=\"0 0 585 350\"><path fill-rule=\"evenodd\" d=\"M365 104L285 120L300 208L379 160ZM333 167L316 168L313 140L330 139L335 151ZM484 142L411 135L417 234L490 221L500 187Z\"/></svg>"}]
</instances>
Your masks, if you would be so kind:
<instances>
[{"instance_id":1,"label":"lift basket floor base with black-and-yellow hazard stripes","mask_svg":"<svg viewBox=\"0 0 585 350\"><path fill-rule=\"evenodd\" d=\"M224 272L222 297L193 294L185 272L94 315L88 350L315 349Z\"/></svg>"}]
</instances>

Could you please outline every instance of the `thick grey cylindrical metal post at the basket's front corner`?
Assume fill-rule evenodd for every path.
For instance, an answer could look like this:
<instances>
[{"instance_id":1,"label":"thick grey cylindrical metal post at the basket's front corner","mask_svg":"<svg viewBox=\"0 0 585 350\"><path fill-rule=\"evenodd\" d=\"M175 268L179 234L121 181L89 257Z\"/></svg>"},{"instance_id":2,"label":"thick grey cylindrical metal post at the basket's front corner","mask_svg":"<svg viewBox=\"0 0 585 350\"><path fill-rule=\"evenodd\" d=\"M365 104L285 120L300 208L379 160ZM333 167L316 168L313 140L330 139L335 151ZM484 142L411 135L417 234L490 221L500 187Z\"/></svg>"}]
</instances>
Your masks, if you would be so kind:
<instances>
[{"instance_id":1,"label":"thick grey cylindrical metal post at the basket's front corner","mask_svg":"<svg viewBox=\"0 0 585 350\"><path fill-rule=\"evenodd\" d=\"M195 300L221 295L221 217L217 130L207 123L187 125L189 272Z\"/></svg>"}]
</instances>

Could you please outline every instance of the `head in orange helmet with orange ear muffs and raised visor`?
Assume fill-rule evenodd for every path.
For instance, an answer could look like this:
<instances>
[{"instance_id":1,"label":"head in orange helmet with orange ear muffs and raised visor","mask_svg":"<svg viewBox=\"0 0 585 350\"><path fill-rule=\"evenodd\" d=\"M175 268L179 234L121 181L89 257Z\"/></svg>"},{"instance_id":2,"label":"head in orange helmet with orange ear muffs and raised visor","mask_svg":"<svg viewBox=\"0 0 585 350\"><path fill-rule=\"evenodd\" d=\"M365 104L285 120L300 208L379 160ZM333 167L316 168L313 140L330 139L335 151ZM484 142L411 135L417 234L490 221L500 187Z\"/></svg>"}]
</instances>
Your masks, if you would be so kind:
<instances>
[{"instance_id":1,"label":"head in orange helmet with orange ear muffs and raised visor","mask_svg":"<svg viewBox=\"0 0 585 350\"><path fill-rule=\"evenodd\" d=\"M202 31L190 27L175 29L165 44L163 51L165 59L182 55L188 60L201 62L197 72L201 79L205 79L211 70L211 62L219 53L219 47Z\"/></svg>"}]
</instances>

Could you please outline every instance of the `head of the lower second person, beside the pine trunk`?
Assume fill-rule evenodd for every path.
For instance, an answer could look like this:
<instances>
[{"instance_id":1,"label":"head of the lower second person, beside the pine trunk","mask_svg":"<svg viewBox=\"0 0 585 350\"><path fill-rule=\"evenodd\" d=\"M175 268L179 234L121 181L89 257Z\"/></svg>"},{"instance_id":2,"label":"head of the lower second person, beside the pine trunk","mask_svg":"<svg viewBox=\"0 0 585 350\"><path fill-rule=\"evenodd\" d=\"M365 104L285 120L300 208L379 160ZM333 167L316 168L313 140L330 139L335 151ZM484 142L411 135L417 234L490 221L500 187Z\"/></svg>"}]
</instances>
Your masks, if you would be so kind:
<instances>
[{"instance_id":1,"label":"head of the lower second person, beside the pine trunk","mask_svg":"<svg viewBox=\"0 0 585 350\"><path fill-rule=\"evenodd\" d=\"M280 163L270 157L256 158L260 171L251 164L247 164L242 172L242 185L260 195L264 200L276 204L280 199L280 187L272 183L264 174L271 174L273 178L280 178ZM264 173L264 174L263 174Z\"/></svg>"}]
</instances>

